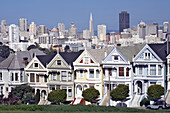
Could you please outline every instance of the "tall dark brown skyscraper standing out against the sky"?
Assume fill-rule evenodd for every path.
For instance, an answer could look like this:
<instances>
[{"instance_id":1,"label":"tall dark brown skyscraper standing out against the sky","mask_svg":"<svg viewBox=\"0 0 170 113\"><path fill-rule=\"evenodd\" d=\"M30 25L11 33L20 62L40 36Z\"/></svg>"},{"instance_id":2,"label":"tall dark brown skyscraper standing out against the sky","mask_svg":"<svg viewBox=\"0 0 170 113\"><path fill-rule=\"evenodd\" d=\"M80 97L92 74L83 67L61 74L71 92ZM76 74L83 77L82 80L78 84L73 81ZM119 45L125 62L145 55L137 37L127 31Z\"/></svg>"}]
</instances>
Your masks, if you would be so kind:
<instances>
[{"instance_id":1,"label":"tall dark brown skyscraper standing out against the sky","mask_svg":"<svg viewBox=\"0 0 170 113\"><path fill-rule=\"evenodd\" d=\"M119 13L119 32L122 32L123 29L129 28L129 23L129 13L127 13L127 11Z\"/></svg>"}]
</instances>

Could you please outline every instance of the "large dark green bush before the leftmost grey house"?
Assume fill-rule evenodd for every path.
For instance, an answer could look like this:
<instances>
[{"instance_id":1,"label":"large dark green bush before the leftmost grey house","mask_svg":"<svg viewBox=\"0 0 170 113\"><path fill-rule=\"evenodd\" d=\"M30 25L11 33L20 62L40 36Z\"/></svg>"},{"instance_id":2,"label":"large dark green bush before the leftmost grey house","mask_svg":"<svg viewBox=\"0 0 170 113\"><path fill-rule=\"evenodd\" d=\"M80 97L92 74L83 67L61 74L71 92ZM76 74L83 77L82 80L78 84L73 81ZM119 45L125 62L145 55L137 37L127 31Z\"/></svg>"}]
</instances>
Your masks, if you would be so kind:
<instances>
[{"instance_id":1,"label":"large dark green bush before the leftmost grey house","mask_svg":"<svg viewBox=\"0 0 170 113\"><path fill-rule=\"evenodd\" d=\"M12 93L21 100L22 104L27 104L32 98L32 88L28 85L19 85L12 90Z\"/></svg>"}]
</instances>

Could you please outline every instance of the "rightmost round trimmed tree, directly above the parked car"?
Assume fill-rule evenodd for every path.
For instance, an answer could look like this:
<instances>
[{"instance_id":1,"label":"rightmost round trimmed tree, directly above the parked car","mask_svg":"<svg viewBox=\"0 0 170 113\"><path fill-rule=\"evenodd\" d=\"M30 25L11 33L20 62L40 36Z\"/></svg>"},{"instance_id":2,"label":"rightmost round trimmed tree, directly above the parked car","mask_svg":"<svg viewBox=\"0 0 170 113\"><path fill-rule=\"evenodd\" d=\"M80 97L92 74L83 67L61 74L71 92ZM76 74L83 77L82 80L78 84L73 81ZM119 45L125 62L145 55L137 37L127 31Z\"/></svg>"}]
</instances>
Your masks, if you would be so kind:
<instances>
[{"instance_id":1,"label":"rightmost round trimmed tree, directly above the parked car","mask_svg":"<svg viewBox=\"0 0 170 113\"><path fill-rule=\"evenodd\" d=\"M164 91L165 91L164 87L155 84L149 86L147 94L151 100L158 100L161 98L162 95L164 95Z\"/></svg>"}]
</instances>

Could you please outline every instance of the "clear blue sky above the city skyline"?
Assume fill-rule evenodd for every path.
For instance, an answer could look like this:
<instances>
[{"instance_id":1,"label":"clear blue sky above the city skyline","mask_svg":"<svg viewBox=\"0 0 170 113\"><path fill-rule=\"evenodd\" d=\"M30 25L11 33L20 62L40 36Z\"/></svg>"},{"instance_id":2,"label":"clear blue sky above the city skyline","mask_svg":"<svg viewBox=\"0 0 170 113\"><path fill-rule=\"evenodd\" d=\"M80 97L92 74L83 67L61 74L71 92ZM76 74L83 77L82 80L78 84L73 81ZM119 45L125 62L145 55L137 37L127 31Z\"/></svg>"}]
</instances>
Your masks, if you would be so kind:
<instances>
[{"instance_id":1,"label":"clear blue sky above the city skyline","mask_svg":"<svg viewBox=\"0 0 170 113\"><path fill-rule=\"evenodd\" d=\"M0 0L0 21L18 24L27 18L30 24L46 25L49 29L64 23L69 29L72 22L79 32L89 28L90 12L94 30L105 24L107 30L119 29L119 13L130 14L130 27L141 20L146 24L170 21L170 0Z\"/></svg>"}]
</instances>

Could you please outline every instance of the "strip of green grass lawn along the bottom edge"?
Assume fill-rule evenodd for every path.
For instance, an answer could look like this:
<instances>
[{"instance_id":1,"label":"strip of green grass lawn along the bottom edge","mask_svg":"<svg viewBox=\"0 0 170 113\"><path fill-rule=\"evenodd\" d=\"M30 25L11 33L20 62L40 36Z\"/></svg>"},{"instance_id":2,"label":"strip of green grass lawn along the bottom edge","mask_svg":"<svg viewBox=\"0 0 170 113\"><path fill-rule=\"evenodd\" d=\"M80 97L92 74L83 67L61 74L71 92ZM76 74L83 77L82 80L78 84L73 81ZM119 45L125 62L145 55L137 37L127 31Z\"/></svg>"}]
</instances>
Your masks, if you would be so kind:
<instances>
[{"instance_id":1,"label":"strip of green grass lawn along the bottom edge","mask_svg":"<svg viewBox=\"0 0 170 113\"><path fill-rule=\"evenodd\" d=\"M113 106L84 105L0 105L0 113L170 113L169 110L145 110Z\"/></svg>"}]
</instances>

